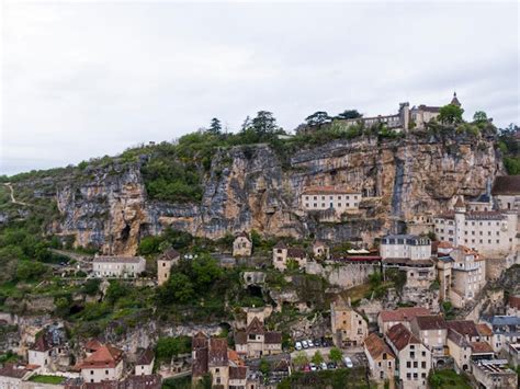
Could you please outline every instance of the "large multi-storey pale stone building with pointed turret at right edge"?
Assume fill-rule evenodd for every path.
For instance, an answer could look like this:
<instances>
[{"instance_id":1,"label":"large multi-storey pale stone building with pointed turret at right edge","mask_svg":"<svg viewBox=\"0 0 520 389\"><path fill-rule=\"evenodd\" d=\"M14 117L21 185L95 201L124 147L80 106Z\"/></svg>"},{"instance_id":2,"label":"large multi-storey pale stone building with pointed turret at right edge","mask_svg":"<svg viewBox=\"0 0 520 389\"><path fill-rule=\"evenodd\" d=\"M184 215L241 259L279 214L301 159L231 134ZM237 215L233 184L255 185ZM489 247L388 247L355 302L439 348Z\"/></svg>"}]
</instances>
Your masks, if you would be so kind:
<instances>
[{"instance_id":1,"label":"large multi-storey pale stone building with pointed turret at right edge","mask_svg":"<svg viewBox=\"0 0 520 389\"><path fill-rule=\"evenodd\" d=\"M434 217L434 232L439 240L453 245L465 245L485 256L501 256L517 250L515 211L467 211L462 197L454 210Z\"/></svg>"}]
</instances>

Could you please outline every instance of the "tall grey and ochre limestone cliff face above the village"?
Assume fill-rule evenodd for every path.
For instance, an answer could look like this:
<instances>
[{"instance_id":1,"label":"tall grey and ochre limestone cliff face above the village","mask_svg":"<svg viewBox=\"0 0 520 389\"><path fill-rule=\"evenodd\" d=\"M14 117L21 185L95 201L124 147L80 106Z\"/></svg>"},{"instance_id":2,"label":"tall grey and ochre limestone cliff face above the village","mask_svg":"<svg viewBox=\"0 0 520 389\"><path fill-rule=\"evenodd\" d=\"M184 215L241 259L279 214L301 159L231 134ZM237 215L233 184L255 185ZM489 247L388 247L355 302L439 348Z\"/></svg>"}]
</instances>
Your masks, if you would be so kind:
<instances>
[{"instance_id":1,"label":"tall grey and ochre limestone cliff face above the village","mask_svg":"<svg viewBox=\"0 0 520 389\"><path fill-rule=\"evenodd\" d=\"M414 215L446 209L454 195L479 195L489 179L502 173L493 139L338 140L295 152L289 167L267 145L242 146L217 152L202 202L169 204L147 198L143 163L86 170L80 180L58 187L61 220L55 232L114 254L134 254L140 238L169 226L211 239L256 229L371 242ZM360 190L371 197L370 209L341 224L319 224L299 208L299 195L309 185Z\"/></svg>"}]
</instances>

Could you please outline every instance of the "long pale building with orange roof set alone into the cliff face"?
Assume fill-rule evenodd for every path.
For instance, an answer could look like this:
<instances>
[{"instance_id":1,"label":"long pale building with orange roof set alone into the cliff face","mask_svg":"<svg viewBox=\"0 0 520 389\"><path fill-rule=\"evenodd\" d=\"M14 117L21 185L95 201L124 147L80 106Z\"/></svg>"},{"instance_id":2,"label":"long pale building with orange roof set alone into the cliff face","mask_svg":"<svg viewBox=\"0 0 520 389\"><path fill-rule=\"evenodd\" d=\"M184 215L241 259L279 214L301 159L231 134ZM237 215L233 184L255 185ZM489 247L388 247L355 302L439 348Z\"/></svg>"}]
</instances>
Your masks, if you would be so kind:
<instances>
[{"instance_id":1,"label":"long pale building with orange roof set alone into the cliff face","mask_svg":"<svg viewBox=\"0 0 520 389\"><path fill-rule=\"evenodd\" d=\"M359 209L362 194L344 187L313 186L301 195L302 207L306 211L334 209L337 216Z\"/></svg>"}]
</instances>

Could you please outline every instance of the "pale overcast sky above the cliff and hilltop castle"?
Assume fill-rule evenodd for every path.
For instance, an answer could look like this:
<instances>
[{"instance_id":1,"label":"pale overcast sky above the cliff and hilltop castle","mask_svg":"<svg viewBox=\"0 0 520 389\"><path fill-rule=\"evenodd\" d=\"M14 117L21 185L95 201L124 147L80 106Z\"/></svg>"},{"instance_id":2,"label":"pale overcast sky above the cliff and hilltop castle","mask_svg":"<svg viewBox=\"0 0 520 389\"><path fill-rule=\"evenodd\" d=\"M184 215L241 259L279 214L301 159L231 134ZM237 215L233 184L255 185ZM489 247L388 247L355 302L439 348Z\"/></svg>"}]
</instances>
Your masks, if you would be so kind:
<instances>
[{"instance_id":1,"label":"pale overcast sky above the cliff and hilltop castle","mask_svg":"<svg viewBox=\"0 0 520 389\"><path fill-rule=\"evenodd\" d=\"M171 140L216 116L443 105L519 121L519 5L3 2L0 174Z\"/></svg>"}]
</instances>

